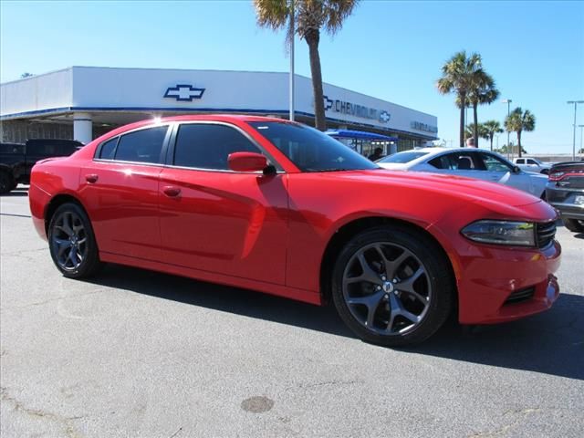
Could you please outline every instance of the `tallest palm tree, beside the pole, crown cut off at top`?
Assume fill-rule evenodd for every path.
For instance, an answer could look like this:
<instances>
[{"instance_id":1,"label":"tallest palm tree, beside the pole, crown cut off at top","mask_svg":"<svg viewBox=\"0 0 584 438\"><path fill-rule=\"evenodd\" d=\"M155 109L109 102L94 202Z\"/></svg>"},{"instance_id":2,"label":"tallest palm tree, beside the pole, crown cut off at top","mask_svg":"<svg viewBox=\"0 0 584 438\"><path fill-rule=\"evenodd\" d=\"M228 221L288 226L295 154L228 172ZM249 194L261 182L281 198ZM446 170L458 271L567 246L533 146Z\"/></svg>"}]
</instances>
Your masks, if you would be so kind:
<instances>
[{"instance_id":1,"label":"tallest palm tree, beside the pole, crown cut off at top","mask_svg":"<svg viewBox=\"0 0 584 438\"><path fill-rule=\"evenodd\" d=\"M322 72L318 42L320 30L336 34L347 17L351 15L359 0L295 0L294 21L296 29L288 28L288 37L296 31L300 39L308 44L310 72L314 94L315 126L327 130L325 118L324 93L322 91ZM279 30L287 26L292 0L254 0L257 24Z\"/></svg>"}]
</instances>

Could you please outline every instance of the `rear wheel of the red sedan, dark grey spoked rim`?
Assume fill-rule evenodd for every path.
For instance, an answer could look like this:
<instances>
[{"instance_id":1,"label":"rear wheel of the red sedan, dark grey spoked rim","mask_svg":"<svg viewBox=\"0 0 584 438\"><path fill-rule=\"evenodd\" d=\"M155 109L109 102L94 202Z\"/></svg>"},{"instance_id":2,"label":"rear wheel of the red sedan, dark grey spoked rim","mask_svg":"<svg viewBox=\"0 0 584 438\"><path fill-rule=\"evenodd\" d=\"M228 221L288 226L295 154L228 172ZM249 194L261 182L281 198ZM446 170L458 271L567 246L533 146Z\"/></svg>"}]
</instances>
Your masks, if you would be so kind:
<instances>
[{"instance_id":1,"label":"rear wheel of the red sedan, dark grey spoked rim","mask_svg":"<svg viewBox=\"0 0 584 438\"><path fill-rule=\"evenodd\" d=\"M102 266L89 217L77 203L60 205L51 217L48 247L53 263L68 278L93 276Z\"/></svg>"}]
</instances>

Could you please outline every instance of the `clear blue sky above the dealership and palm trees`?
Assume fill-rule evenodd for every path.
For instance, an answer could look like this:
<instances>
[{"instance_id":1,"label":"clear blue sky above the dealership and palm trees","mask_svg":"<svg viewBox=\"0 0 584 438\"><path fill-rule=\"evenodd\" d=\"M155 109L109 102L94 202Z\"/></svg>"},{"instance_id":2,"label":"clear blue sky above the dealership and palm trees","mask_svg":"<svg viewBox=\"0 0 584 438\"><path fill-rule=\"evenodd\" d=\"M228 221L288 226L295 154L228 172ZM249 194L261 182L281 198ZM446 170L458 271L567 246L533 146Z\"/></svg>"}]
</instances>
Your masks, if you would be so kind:
<instances>
[{"instance_id":1,"label":"clear blue sky above the dealership and palm trees","mask_svg":"<svg viewBox=\"0 0 584 438\"><path fill-rule=\"evenodd\" d=\"M256 26L251 0L1 0L0 81L70 66L287 71L284 40ZM321 36L322 76L435 115L438 136L455 146L454 96L440 95L435 82L459 50L483 57L511 110L535 114L536 130L522 135L527 151L572 151L574 106L566 102L584 100L582 1L362 0L337 35ZM304 41L295 53L297 74L310 77ZM578 110L584 124L584 104ZM506 111L498 100L481 106L478 120L503 122ZM577 130L577 150L580 141Z\"/></svg>"}]
</instances>

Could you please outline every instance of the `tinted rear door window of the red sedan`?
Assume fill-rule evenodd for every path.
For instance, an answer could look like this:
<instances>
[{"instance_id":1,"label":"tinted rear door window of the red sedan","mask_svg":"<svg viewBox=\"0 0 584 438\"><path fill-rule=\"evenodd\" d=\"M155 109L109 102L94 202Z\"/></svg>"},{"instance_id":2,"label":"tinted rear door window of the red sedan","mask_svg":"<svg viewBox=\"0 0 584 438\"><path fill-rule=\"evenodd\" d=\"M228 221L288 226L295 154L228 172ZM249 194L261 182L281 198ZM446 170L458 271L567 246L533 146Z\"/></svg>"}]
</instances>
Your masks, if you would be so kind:
<instances>
[{"instance_id":1,"label":"tinted rear door window of the red sedan","mask_svg":"<svg viewBox=\"0 0 584 438\"><path fill-rule=\"evenodd\" d=\"M122 135L115 159L123 162L161 162L162 143L168 126L136 130Z\"/></svg>"}]
</instances>

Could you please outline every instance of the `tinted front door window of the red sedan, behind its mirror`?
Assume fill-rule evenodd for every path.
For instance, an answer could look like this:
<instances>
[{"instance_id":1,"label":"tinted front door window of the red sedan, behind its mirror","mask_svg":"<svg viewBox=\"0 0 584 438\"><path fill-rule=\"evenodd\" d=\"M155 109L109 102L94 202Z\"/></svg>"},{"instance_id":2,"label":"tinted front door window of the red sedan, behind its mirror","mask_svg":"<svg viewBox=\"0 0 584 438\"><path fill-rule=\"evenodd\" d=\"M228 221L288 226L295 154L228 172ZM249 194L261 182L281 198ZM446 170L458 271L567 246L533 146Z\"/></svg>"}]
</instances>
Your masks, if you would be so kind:
<instances>
[{"instance_id":1,"label":"tinted front door window of the red sedan, behind its mirror","mask_svg":"<svg viewBox=\"0 0 584 438\"><path fill-rule=\"evenodd\" d=\"M261 152L241 132L225 125L183 124L174 147L174 165L199 169L229 170L233 152Z\"/></svg>"}]
</instances>

